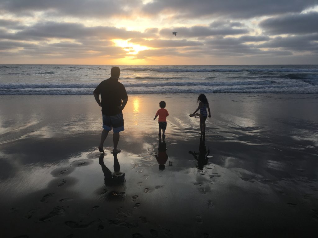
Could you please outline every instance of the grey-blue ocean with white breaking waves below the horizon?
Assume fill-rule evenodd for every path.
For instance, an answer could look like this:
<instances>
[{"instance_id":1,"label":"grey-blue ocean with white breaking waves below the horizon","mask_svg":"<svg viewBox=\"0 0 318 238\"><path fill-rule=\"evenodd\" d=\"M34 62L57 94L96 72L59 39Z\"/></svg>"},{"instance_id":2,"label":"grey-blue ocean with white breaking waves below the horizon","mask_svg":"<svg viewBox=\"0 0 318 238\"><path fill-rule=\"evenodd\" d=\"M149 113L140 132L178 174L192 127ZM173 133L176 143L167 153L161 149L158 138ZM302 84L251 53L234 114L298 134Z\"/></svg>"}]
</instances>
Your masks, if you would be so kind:
<instances>
[{"instance_id":1,"label":"grey-blue ocean with white breaking waves below the horizon","mask_svg":"<svg viewBox=\"0 0 318 238\"><path fill-rule=\"evenodd\" d=\"M318 65L117 65L128 94L318 94ZM0 65L0 95L89 95L112 65Z\"/></svg>"}]
</instances>

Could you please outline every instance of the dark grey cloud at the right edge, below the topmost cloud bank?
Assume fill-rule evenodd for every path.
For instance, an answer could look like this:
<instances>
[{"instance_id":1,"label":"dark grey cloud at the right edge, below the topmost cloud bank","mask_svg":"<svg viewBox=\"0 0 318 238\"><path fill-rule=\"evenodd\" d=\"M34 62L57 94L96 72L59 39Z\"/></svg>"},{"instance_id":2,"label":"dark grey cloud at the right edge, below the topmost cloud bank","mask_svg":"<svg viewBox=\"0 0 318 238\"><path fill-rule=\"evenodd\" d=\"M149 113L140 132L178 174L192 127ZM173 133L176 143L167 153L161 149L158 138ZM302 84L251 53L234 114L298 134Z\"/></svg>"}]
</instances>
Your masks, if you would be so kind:
<instances>
[{"instance_id":1,"label":"dark grey cloud at the right edge, below the topmost cloud bank","mask_svg":"<svg viewBox=\"0 0 318 238\"><path fill-rule=\"evenodd\" d=\"M271 35L318 33L318 12L273 17L259 26Z\"/></svg>"}]
</instances>

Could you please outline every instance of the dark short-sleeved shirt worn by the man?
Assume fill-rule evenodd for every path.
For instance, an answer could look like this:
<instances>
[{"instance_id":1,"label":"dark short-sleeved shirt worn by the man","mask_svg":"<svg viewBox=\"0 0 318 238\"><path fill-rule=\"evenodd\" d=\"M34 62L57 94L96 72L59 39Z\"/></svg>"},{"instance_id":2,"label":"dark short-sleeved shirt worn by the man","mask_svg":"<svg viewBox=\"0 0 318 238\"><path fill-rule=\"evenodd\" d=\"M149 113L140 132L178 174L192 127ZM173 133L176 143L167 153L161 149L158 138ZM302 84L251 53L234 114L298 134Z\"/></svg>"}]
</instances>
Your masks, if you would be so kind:
<instances>
[{"instance_id":1,"label":"dark short-sleeved shirt worn by the man","mask_svg":"<svg viewBox=\"0 0 318 238\"><path fill-rule=\"evenodd\" d=\"M128 98L128 95L124 85L119 83L117 78L110 77L102 81L94 93L101 94L101 112L105 116L122 113L118 106L121 106L121 100Z\"/></svg>"}]
</instances>

